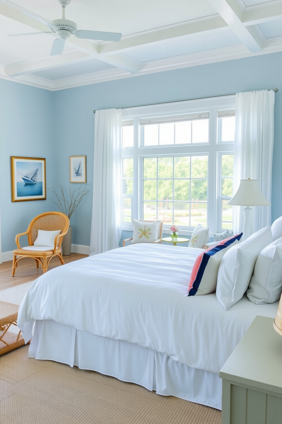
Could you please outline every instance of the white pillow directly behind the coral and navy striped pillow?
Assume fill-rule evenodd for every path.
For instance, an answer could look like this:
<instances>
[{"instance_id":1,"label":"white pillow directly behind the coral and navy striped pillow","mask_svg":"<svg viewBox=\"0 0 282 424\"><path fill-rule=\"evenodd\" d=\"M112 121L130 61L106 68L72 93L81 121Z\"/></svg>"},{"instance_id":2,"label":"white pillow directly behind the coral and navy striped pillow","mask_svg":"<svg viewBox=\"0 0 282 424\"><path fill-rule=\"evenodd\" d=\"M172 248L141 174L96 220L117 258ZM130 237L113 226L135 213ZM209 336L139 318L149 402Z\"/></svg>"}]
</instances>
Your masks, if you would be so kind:
<instances>
[{"instance_id":1,"label":"white pillow directly behind the coral and navy striped pillow","mask_svg":"<svg viewBox=\"0 0 282 424\"><path fill-rule=\"evenodd\" d=\"M226 311L243 297L260 251L271 241L271 228L265 227L230 248L222 258L217 276L216 297Z\"/></svg>"}]
</instances>

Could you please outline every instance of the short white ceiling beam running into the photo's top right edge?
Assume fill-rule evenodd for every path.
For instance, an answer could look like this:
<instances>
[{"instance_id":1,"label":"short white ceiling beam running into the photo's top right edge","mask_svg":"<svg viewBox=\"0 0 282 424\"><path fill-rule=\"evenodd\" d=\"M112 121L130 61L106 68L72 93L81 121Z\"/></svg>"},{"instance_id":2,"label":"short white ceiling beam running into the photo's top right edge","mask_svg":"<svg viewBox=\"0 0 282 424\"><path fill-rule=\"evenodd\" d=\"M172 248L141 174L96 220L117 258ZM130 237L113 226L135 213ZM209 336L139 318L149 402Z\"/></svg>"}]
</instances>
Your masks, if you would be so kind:
<instances>
[{"instance_id":1,"label":"short white ceiling beam running into the photo's top right edge","mask_svg":"<svg viewBox=\"0 0 282 424\"><path fill-rule=\"evenodd\" d=\"M242 18L242 23L245 26L282 19L282 3L265 3L263 6L246 9L243 11Z\"/></svg>"}]
</instances>

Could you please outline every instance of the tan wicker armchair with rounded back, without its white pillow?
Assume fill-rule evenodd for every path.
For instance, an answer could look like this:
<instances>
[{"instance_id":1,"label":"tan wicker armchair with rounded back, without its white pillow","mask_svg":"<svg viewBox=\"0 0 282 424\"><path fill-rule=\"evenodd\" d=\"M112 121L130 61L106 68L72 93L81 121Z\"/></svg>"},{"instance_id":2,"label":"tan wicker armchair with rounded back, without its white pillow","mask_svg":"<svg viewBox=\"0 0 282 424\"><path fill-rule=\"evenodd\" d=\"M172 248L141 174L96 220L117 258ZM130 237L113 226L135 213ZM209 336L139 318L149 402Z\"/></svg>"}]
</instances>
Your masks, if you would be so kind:
<instances>
[{"instance_id":1,"label":"tan wicker armchair with rounded back, without its white pillow","mask_svg":"<svg viewBox=\"0 0 282 424\"><path fill-rule=\"evenodd\" d=\"M41 263L41 268L43 273L47 272L49 260L58 256L61 264L64 264L63 256L61 254L61 244L63 241L63 236L67 233L69 227L69 219L62 212L45 212L41 215L36 216L28 226L28 229L25 233L20 233L16 235L16 245L18 248L14 250L13 258L13 268L12 276L14 277L16 267L18 266L19 259L22 258L33 258L36 261L36 268L39 267L39 262ZM61 230L60 234L55 237L54 248L48 250L28 250L27 248L21 248L19 245L19 237L27 234L28 245L33 246L37 238L38 230L45 231L55 231Z\"/></svg>"}]
</instances>

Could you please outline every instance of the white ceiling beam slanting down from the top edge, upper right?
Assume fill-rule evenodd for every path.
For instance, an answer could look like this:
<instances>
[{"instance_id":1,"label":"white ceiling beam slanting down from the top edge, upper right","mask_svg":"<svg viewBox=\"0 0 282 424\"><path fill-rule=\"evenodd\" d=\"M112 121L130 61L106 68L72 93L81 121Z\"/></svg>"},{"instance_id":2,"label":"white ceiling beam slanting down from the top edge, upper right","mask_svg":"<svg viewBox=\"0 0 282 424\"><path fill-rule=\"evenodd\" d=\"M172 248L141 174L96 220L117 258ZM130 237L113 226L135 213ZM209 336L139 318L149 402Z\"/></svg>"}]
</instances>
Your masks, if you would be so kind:
<instances>
[{"instance_id":1,"label":"white ceiling beam slanting down from the top edge, upper right","mask_svg":"<svg viewBox=\"0 0 282 424\"><path fill-rule=\"evenodd\" d=\"M257 53L263 49L263 40L260 38L259 34L257 33L256 36L254 31L249 31L242 23L243 11L236 0L208 1L251 53Z\"/></svg>"}]
</instances>

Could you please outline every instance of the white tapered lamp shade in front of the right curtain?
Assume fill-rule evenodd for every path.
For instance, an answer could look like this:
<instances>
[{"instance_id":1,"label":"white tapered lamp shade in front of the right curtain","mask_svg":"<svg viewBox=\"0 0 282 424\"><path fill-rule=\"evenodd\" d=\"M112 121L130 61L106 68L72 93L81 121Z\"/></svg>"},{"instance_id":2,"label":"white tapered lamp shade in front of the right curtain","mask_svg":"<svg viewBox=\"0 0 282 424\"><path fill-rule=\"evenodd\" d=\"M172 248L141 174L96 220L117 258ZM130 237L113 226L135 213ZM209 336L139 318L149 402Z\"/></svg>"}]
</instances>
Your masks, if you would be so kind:
<instances>
[{"instance_id":1,"label":"white tapered lamp shade in front of the right curtain","mask_svg":"<svg viewBox=\"0 0 282 424\"><path fill-rule=\"evenodd\" d=\"M237 193L227 203L236 206L267 206L271 203L266 200L260 191L257 180L241 180Z\"/></svg>"}]
</instances>

